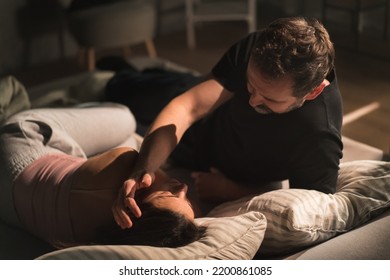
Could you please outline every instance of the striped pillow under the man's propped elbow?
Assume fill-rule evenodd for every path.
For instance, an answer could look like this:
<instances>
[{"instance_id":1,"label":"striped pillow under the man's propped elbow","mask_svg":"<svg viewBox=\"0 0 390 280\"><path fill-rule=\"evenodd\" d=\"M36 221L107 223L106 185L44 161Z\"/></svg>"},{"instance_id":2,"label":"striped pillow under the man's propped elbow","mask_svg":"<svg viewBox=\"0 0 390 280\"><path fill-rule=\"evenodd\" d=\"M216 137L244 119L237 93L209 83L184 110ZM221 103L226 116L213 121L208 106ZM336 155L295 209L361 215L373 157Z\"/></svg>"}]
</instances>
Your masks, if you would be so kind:
<instances>
[{"instance_id":1,"label":"striped pillow under the man's propped elbow","mask_svg":"<svg viewBox=\"0 0 390 280\"><path fill-rule=\"evenodd\" d=\"M349 231L390 206L390 163L351 161L340 165L335 194L281 189L228 202L212 217L259 211L267 230L258 256L280 256Z\"/></svg>"}]
</instances>

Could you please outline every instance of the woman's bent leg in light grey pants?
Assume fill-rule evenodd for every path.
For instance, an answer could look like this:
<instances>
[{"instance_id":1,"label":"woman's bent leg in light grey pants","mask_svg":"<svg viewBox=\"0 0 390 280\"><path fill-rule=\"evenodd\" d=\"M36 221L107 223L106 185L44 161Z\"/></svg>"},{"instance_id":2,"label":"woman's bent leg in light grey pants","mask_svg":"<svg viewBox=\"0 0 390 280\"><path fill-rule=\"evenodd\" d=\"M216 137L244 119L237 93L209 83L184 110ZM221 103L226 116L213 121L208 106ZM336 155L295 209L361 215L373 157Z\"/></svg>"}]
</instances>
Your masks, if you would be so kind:
<instances>
[{"instance_id":1,"label":"woman's bent leg in light grey pants","mask_svg":"<svg viewBox=\"0 0 390 280\"><path fill-rule=\"evenodd\" d=\"M115 103L28 110L9 122L22 122L29 128L36 126L37 135L30 135L29 139L35 141L34 146L79 157L89 157L123 143L134 134L136 126L129 109Z\"/></svg>"}]
</instances>

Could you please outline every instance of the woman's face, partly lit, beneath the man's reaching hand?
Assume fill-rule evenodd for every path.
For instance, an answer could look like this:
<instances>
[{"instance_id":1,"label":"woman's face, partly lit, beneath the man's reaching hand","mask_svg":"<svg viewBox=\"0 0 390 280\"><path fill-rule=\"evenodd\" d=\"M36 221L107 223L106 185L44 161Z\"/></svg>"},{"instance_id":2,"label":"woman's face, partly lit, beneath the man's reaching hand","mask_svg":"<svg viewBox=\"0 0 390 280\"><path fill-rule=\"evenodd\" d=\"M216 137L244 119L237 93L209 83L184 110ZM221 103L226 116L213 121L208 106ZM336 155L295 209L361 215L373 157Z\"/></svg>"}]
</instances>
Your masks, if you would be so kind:
<instances>
[{"instance_id":1,"label":"woman's face, partly lit, beneath the man's reaching hand","mask_svg":"<svg viewBox=\"0 0 390 280\"><path fill-rule=\"evenodd\" d=\"M186 184L171 179L139 190L137 200L138 202L150 203L157 208L180 213L188 219L194 220L195 214L187 198L187 190Z\"/></svg>"}]
</instances>

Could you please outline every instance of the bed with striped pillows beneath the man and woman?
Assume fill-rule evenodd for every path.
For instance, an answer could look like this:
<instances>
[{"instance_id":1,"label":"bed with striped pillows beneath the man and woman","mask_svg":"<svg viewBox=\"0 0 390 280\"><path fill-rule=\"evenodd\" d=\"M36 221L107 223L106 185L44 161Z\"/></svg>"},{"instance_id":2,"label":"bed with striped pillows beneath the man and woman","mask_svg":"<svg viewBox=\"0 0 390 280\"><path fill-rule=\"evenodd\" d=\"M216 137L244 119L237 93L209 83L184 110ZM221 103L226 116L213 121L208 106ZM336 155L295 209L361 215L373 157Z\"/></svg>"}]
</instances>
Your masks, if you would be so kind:
<instances>
[{"instance_id":1,"label":"bed with striped pillows beneath the man and woman","mask_svg":"<svg viewBox=\"0 0 390 280\"><path fill-rule=\"evenodd\" d=\"M190 71L163 59L133 58L139 69ZM111 71L93 71L27 89L25 106L101 102ZM15 82L15 81L13 81ZM17 82L17 81L16 81ZM22 106L23 107L23 106ZM134 131L131 143L142 142ZM77 246L56 250L0 222L1 259L390 259L390 163L382 151L343 137L344 158L335 194L286 189L219 205L196 223L207 227L180 248ZM189 171L167 166L192 184Z\"/></svg>"}]
</instances>

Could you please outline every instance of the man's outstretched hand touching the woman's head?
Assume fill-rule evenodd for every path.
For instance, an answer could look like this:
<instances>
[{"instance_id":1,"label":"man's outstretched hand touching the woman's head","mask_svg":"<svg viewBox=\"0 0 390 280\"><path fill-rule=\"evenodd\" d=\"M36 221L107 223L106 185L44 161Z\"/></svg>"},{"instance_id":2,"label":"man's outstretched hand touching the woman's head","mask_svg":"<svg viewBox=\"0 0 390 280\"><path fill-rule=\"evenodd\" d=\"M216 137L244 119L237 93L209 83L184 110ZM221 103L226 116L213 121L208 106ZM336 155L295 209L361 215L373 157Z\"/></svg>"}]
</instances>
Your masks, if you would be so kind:
<instances>
[{"instance_id":1,"label":"man's outstretched hand touching the woman's head","mask_svg":"<svg viewBox=\"0 0 390 280\"><path fill-rule=\"evenodd\" d=\"M144 173L139 178L134 176L123 183L123 187L119 190L118 196L112 206L112 213L115 222L122 228L130 228L133 222L130 219L130 213L136 218L141 217L142 213L135 201L135 193L141 188L150 187L153 182L153 177L149 173Z\"/></svg>"}]
</instances>

